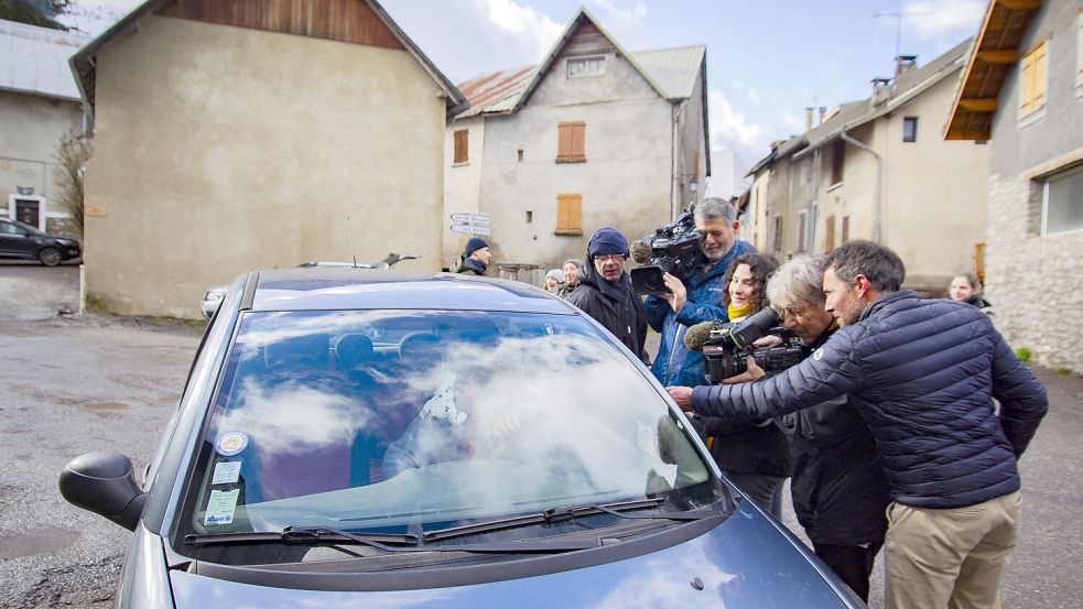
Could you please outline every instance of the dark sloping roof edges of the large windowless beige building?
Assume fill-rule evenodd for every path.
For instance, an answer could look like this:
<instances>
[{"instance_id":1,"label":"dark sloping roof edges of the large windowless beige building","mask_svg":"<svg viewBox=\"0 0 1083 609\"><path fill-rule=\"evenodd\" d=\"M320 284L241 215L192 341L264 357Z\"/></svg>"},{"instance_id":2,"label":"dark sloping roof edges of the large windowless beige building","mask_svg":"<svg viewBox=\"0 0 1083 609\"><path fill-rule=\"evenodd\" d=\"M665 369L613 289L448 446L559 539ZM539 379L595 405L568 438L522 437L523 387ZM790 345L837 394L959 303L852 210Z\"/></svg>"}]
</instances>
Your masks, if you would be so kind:
<instances>
[{"instance_id":1,"label":"dark sloping roof edges of the large windowless beige building","mask_svg":"<svg viewBox=\"0 0 1083 609\"><path fill-rule=\"evenodd\" d=\"M375 13L381 22L390 30L391 35L394 40L405 48L414 59L421 64L422 68L436 81L436 85L446 95L446 106L448 113L454 113L461 110L466 105L466 98L463 94L455 88L455 85L444 76L440 69L429 59L429 57L413 43L412 40L403 32L399 25L391 19L391 17L383 10L383 7L379 4L376 0L356 0L357 2L362 2L368 7L369 10ZM95 85L97 81L96 74L96 61L98 51L105 47L109 42L116 39L121 33L139 30L139 20L147 15L150 15L162 9L166 4L172 4L170 0L147 0L142 4L132 9L127 15L124 15L120 21L112 24L108 30L101 33L98 37L94 39L93 42L87 44L75 54L69 63L72 66L72 72L75 73L76 81L79 86L79 91L83 95L90 108L93 109L95 102Z\"/></svg>"}]
</instances>

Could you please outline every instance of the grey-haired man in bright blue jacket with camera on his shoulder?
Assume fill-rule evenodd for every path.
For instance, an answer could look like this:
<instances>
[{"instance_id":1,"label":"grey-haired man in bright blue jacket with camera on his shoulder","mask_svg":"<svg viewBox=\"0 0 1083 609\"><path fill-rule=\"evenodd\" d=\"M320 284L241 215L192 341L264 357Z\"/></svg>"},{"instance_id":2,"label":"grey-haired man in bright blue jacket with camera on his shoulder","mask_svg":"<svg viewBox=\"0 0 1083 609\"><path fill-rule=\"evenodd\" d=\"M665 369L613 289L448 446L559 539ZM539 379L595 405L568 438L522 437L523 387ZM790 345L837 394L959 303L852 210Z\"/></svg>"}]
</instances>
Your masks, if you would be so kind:
<instances>
[{"instance_id":1,"label":"grey-haired man in bright blue jacket with camera on his shoulder","mask_svg":"<svg viewBox=\"0 0 1083 609\"><path fill-rule=\"evenodd\" d=\"M729 319L722 304L726 269L738 255L756 251L737 239L738 226L737 210L729 202L707 198L696 205L695 227L704 235L700 247L704 261L686 278L687 285L665 273L671 293L650 295L643 302L647 323L662 335L651 372L663 385L704 382L703 354L684 346L684 331L701 322Z\"/></svg>"}]
</instances>

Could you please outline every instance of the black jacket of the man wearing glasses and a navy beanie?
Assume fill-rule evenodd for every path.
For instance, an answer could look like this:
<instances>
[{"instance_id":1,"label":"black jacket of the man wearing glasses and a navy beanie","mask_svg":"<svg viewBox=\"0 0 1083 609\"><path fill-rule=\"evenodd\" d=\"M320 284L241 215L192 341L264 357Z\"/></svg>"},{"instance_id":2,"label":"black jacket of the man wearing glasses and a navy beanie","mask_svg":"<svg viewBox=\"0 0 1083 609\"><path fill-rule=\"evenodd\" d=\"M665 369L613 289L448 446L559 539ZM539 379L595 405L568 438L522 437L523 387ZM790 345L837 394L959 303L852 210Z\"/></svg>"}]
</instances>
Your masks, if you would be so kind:
<instances>
[{"instance_id":1,"label":"black jacket of the man wearing glasses and a navy beanie","mask_svg":"<svg viewBox=\"0 0 1083 609\"><path fill-rule=\"evenodd\" d=\"M639 356L643 363L650 365L645 342L647 340L647 316L643 315L642 303L631 287L628 273L621 273L620 281L613 286L621 294L614 300L602 293L598 282L605 281L594 272L594 267L587 262L576 273L578 287L567 297L567 302L583 309L584 313L605 326L631 352Z\"/></svg>"}]
</instances>

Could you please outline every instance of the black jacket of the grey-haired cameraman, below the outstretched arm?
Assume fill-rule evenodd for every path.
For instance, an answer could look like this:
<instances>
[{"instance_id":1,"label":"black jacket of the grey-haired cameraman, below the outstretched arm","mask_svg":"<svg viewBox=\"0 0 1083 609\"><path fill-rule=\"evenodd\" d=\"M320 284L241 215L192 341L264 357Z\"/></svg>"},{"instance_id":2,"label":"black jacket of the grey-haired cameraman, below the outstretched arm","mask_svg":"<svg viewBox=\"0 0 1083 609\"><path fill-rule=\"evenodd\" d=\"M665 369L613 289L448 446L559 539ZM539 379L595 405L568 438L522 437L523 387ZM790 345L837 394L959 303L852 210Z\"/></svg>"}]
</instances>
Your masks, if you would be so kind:
<instances>
[{"instance_id":1,"label":"black jacket of the grey-haired cameraman, below the outstretched arm","mask_svg":"<svg viewBox=\"0 0 1083 609\"><path fill-rule=\"evenodd\" d=\"M823 346L829 329L809 346ZM790 448L793 512L816 544L884 543L890 501L880 452L846 395L791 412L775 423Z\"/></svg>"}]
</instances>

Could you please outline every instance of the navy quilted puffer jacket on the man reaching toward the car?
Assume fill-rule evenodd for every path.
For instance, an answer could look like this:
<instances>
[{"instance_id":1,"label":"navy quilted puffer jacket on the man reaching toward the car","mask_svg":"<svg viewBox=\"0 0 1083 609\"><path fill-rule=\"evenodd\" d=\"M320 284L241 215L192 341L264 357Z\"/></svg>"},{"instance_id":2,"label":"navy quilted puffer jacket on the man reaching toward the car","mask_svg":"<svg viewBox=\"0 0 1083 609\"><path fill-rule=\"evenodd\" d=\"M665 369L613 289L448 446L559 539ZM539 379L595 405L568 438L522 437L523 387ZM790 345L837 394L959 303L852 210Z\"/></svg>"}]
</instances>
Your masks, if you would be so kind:
<instances>
[{"instance_id":1,"label":"navy quilted puffer jacket on the man reaching toward the car","mask_svg":"<svg viewBox=\"0 0 1083 609\"><path fill-rule=\"evenodd\" d=\"M1044 388L987 315L909 290L873 303L800 365L755 383L697 387L692 405L758 420L844 393L881 448L891 499L919 508L1019 490L1016 459L1048 407Z\"/></svg>"}]
</instances>

